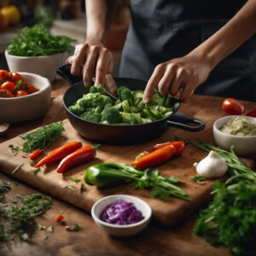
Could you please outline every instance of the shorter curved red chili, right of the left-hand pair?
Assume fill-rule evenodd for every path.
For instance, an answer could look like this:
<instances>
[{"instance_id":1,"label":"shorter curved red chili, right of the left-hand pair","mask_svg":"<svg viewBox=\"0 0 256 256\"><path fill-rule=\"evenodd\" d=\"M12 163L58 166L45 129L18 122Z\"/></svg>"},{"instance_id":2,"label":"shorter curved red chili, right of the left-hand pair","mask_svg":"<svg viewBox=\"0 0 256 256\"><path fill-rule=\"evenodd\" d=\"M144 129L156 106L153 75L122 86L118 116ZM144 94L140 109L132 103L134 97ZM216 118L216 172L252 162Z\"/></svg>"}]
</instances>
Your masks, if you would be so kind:
<instances>
[{"instance_id":1,"label":"shorter curved red chili, right of the left-hand pair","mask_svg":"<svg viewBox=\"0 0 256 256\"><path fill-rule=\"evenodd\" d=\"M64 173L73 166L78 166L87 160L92 160L96 156L96 151L91 148L90 145L85 145L83 148L79 148L72 154L68 154L67 157L61 160L57 168L57 172Z\"/></svg>"}]
</instances>

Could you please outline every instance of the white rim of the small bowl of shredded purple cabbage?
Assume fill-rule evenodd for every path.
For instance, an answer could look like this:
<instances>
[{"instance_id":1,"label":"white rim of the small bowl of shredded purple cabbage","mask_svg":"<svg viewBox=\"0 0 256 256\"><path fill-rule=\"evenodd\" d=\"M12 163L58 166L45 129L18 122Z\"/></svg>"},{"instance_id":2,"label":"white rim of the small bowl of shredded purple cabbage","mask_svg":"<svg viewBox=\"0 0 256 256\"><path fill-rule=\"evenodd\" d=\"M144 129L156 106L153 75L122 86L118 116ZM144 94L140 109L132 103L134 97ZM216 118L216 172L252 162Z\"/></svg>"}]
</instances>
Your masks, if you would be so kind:
<instances>
[{"instance_id":1,"label":"white rim of the small bowl of shredded purple cabbage","mask_svg":"<svg viewBox=\"0 0 256 256\"><path fill-rule=\"evenodd\" d=\"M102 221L100 218L98 218L95 214L95 208L98 204L100 204L102 201L105 201L107 200L108 198L114 198L114 197L122 197L122 196L125 196L125 197L129 197L133 200L137 200L137 201L141 201L143 202L143 204L148 207L148 217L147 216L144 216L144 218L140 221L138 221L137 223L134 223L134 224L125 224L125 225L119 225L119 224L109 224L108 222L105 222L105 221ZM143 212L142 212L143 213ZM96 221L99 223L99 224L102 224L102 225L105 225L105 226L108 226L108 227L111 227L111 228L116 228L116 229L129 229L129 228L133 228L133 227L137 227L138 225L141 225L141 224L144 224L145 222L148 221L149 218L151 218L151 215L152 215L152 210L151 210L151 207L149 207L148 203L143 201L142 199L136 197L136 196L133 196L133 195L108 195L108 196L105 196L103 197L102 199L96 201L96 203L93 205L93 207L91 208L91 215L93 218L96 218Z\"/></svg>"}]
</instances>

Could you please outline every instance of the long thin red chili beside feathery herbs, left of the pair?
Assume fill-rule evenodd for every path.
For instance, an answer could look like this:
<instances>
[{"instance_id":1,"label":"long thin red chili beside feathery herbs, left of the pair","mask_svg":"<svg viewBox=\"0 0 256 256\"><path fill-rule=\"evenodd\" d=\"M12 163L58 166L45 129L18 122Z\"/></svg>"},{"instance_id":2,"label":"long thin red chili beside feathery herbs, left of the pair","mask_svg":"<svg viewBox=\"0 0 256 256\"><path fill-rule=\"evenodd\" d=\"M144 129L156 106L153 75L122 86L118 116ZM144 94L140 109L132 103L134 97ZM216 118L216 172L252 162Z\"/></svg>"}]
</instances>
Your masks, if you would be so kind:
<instances>
[{"instance_id":1,"label":"long thin red chili beside feathery herbs, left of the pair","mask_svg":"<svg viewBox=\"0 0 256 256\"><path fill-rule=\"evenodd\" d=\"M44 157L44 159L40 160L37 165L35 165L35 168L38 168L40 166L49 166L57 161L62 160L64 157L66 157L68 154L74 152L75 150L82 147L81 143L73 142L73 143L67 143L64 146L61 146L60 148L55 148L55 150L51 151L47 156Z\"/></svg>"}]
</instances>

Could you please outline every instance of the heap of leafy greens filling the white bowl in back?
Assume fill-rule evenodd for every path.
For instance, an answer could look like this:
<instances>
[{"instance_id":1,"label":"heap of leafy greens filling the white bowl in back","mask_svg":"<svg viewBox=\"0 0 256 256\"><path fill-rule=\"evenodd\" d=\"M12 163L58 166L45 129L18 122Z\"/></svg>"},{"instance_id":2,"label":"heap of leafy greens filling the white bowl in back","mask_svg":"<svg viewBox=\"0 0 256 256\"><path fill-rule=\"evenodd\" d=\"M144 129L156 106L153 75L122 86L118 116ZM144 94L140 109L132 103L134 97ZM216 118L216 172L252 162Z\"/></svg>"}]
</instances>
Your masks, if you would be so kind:
<instances>
[{"instance_id":1,"label":"heap of leafy greens filling the white bowl in back","mask_svg":"<svg viewBox=\"0 0 256 256\"><path fill-rule=\"evenodd\" d=\"M61 52L73 53L75 40L66 36L53 36L44 26L24 27L8 42L9 55L42 56Z\"/></svg>"}]
</instances>

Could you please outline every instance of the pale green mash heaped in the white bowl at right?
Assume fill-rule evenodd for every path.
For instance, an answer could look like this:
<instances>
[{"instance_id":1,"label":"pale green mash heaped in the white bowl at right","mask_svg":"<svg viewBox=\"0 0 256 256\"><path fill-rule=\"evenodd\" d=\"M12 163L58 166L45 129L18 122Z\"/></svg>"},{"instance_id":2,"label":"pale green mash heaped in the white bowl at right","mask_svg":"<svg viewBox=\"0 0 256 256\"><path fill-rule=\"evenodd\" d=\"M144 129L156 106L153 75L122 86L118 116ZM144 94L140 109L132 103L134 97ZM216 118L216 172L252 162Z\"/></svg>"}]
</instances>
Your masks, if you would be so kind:
<instances>
[{"instance_id":1,"label":"pale green mash heaped in the white bowl at right","mask_svg":"<svg viewBox=\"0 0 256 256\"><path fill-rule=\"evenodd\" d=\"M220 131L235 136L256 136L256 123L251 123L245 116L236 116L220 128Z\"/></svg>"}]
</instances>

